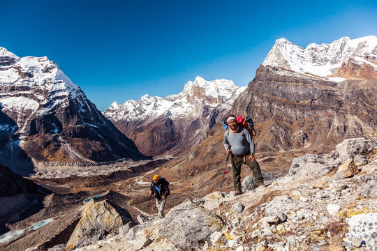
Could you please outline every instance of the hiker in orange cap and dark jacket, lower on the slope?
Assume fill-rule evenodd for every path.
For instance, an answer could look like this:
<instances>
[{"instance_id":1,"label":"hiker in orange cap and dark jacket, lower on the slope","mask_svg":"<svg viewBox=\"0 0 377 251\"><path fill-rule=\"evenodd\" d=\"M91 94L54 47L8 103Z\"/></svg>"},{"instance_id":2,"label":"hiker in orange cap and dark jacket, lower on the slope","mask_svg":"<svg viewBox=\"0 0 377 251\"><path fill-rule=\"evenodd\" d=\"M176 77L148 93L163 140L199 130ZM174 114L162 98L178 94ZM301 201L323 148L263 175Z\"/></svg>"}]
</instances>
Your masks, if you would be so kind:
<instances>
[{"instance_id":1,"label":"hiker in orange cap and dark jacket, lower on the slope","mask_svg":"<svg viewBox=\"0 0 377 251\"><path fill-rule=\"evenodd\" d=\"M159 177L157 174L153 176L149 195L156 197L156 207L158 208L158 216L165 217L164 208L166 197L170 195L169 182L165 178Z\"/></svg>"}]
</instances>

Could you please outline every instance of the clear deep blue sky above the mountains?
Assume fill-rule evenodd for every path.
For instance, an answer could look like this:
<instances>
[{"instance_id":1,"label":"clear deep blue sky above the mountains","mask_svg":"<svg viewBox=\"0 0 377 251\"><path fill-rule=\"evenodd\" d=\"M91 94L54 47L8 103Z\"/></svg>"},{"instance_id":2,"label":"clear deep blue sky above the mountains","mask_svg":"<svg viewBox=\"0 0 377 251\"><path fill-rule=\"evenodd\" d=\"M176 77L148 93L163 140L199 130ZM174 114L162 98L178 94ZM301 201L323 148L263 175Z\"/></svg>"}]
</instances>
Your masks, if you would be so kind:
<instances>
[{"instance_id":1,"label":"clear deep blue sky above the mountains","mask_svg":"<svg viewBox=\"0 0 377 251\"><path fill-rule=\"evenodd\" d=\"M377 35L377 1L0 0L0 46L47 56L104 111L197 75L246 86L279 38Z\"/></svg>"}]
</instances>

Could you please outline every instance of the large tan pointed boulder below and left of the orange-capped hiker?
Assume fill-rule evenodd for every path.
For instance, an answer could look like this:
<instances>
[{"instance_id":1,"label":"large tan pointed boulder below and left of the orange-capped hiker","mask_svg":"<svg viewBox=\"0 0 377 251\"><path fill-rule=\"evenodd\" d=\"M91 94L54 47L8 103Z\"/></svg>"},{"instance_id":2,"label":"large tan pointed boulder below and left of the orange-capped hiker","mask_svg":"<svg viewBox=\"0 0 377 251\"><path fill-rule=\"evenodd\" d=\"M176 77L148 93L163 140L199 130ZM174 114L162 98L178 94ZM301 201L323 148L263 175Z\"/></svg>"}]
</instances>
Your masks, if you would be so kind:
<instances>
[{"instance_id":1,"label":"large tan pointed boulder below and left of the orange-capped hiker","mask_svg":"<svg viewBox=\"0 0 377 251\"><path fill-rule=\"evenodd\" d=\"M69 238L66 250L82 243L90 244L89 240L98 241L101 237L117 231L119 227L131 221L133 220L128 211L111 205L106 200L89 203ZM94 236L96 238L93 238Z\"/></svg>"}]
</instances>

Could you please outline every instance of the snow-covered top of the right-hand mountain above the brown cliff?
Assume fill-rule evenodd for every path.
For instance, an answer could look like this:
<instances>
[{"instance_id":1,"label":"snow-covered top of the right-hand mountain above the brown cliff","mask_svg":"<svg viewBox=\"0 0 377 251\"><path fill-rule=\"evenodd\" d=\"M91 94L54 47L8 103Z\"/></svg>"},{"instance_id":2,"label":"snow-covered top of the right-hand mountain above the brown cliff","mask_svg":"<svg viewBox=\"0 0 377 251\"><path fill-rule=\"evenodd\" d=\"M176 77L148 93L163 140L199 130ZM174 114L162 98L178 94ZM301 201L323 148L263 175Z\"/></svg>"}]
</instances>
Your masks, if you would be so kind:
<instances>
[{"instance_id":1,"label":"snow-covered top of the right-hand mountain above the brown cliff","mask_svg":"<svg viewBox=\"0 0 377 251\"><path fill-rule=\"evenodd\" d=\"M344 73L341 67L352 66L353 73ZM281 38L276 40L263 66L275 66L296 73L344 79L373 79L377 77L377 37L340 38L330 44L309 44L300 47Z\"/></svg>"}]
</instances>

